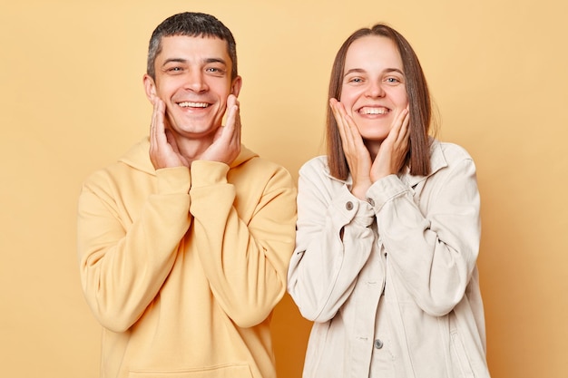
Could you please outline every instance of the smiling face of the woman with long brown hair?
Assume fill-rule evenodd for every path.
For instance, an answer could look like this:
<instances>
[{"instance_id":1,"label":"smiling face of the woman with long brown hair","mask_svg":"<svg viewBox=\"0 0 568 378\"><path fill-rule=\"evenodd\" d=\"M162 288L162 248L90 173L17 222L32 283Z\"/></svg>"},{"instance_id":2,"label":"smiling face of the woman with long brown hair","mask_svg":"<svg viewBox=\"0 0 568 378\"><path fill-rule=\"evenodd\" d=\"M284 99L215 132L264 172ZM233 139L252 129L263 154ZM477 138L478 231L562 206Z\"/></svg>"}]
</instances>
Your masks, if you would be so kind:
<instances>
[{"instance_id":1,"label":"smiling face of the woman with long brown hair","mask_svg":"<svg viewBox=\"0 0 568 378\"><path fill-rule=\"evenodd\" d=\"M340 102L367 142L384 141L397 114L406 109L406 76L397 46L367 35L348 48Z\"/></svg>"}]
</instances>

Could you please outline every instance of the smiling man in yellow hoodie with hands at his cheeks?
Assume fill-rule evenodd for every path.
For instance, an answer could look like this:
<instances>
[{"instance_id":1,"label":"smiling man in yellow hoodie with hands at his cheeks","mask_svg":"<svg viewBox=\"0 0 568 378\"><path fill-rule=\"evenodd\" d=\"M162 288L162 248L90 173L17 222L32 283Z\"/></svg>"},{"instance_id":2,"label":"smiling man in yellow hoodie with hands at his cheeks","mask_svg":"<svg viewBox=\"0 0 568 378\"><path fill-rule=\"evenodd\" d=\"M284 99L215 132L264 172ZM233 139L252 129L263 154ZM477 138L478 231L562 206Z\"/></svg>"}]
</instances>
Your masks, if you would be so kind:
<instances>
[{"instance_id":1,"label":"smiling man in yellow hoodie with hands at his cheeks","mask_svg":"<svg viewBox=\"0 0 568 378\"><path fill-rule=\"evenodd\" d=\"M274 377L269 322L294 248L295 185L240 144L242 81L219 20L167 18L147 71L150 137L79 199L102 376Z\"/></svg>"}]
</instances>

